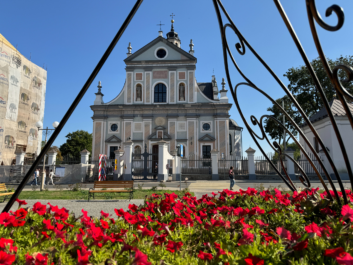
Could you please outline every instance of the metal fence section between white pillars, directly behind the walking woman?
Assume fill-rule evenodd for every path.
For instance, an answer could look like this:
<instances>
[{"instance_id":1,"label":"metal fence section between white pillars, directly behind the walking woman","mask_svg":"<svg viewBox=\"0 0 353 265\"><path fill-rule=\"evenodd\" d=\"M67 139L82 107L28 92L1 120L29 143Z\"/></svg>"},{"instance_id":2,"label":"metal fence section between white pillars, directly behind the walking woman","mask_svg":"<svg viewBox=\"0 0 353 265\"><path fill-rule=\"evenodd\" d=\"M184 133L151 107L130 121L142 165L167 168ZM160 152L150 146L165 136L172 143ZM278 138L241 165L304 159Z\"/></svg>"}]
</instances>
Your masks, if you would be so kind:
<instances>
[{"instance_id":1,"label":"metal fence section between white pillars, directly behind the walking woman","mask_svg":"<svg viewBox=\"0 0 353 265\"><path fill-rule=\"evenodd\" d=\"M229 169L234 167L235 175L249 174L247 157L238 155L225 155L223 159L218 160L218 174L228 177Z\"/></svg>"}]
</instances>

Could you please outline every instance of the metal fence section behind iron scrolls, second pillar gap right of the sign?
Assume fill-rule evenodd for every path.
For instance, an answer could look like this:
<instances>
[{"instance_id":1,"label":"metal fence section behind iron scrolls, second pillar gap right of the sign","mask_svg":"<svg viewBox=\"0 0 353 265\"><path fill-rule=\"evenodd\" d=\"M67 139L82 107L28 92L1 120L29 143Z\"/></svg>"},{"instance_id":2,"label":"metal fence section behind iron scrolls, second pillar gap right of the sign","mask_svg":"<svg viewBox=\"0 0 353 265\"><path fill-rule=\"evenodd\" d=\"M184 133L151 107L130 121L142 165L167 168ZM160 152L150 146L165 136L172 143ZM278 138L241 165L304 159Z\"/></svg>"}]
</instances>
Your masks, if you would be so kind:
<instances>
[{"instance_id":1,"label":"metal fence section behind iron scrolls, second pillar gap right of the sign","mask_svg":"<svg viewBox=\"0 0 353 265\"><path fill-rule=\"evenodd\" d=\"M281 161L279 159L279 156L273 153L269 153L268 157L271 159L272 163L275 165L276 169L280 171L282 174L284 174ZM255 174L258 175L276 175L277 172L275 169L272 167L270 162L264 157L264 156L259 156L254 158L255 162ZM287 168L287 161L282 158L283 166Z\"/></svg>"}]
</instances>

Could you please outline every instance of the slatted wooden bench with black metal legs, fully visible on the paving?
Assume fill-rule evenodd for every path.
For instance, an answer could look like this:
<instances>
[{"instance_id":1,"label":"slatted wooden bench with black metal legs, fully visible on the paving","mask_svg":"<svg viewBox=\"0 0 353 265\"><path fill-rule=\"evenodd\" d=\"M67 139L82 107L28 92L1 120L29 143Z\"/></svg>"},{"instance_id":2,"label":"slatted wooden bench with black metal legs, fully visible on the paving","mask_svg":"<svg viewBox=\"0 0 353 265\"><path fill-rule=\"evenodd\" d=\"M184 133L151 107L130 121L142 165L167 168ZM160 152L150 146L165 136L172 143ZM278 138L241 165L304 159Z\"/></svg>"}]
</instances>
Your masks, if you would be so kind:
<instances>
[{"instance_id":1,"label":"slatted wooden bench with black metal legs, fully visible on the paving","mask_svg":"<svg viewBox=\"0 0 353 265\"><path fill-rule=\"evenodd\" d=\"M102 190L106 188L106 190ZM127 189L125 189L127 188ZM95 196L95 193L106 193L106 192L121 192L121 193L129 193L129 198L133 199L133 180L131 181L95 181L93 188L90 188L88 191L88 201L91 197ZM114 197L122 197L127 195L121 196L114 196ZM103 197L103 196L98 196Z\"/></svg>"}]
</instances>

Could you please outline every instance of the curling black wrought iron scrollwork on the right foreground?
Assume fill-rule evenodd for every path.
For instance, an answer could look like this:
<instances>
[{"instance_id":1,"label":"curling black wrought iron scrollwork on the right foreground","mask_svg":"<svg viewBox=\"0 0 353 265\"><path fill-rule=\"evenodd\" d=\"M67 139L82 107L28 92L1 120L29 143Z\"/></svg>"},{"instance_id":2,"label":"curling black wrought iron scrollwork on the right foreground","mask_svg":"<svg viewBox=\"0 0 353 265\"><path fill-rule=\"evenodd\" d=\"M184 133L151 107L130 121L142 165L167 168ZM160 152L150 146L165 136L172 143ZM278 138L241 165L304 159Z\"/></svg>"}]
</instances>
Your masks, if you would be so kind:
<instances>
[{"instance_id":1,"label":"curling black wrought iron scrollwork on the right foreground","mask_svg":"<svg viewBox=\"0 0 353 265\"><path fill-rule=\"evenodd\" d=\"M313 167L313 169L315 170L317 176L319 177L324 189L326 190L329 198L332 200L332 196L329 192L329 189L327 187L327 185L324 182L324 179L322 178L319 170L317 169L317 167L314 165L312 159L310 158L309 154L307 154L304 150L303 147L301 147L301 145L299 144L299 141L291 134L291 132L285 127L285 125L283 125L279 120L275 119L272 116L269 115L263 115L260 118L260 121L255 117L255 116L251 116L251 123L253 125L256 125L259 127L259 129L261 130L261 136L257 135L253 129L250 127L249 123L247 122L246 118L244 117L243 112L241 111L241 108L239 106L239 101L237 98L237 88L239 86L249 86L255 90L257 90L258 92L262 93L266 98L268 98L284 115L285 117L288 119L288 121L294 126L294 128L298 131L298 133L300 134L301 137L303 137L303 140L306 142L307 146L309 146L310 150L312 151L312 153L314 154L315 158L317 159L317 161L319 162L319 166L323 169L324 174L326 176L326 178L328 179L331 188L334 192L334 195L336 197L336 199L339 201L339 195L337 193L337 190L334 186L333 180L330 176L330 174L328 173L327 169L325 168L322 160L320 159L319 155L315 152L315 149L313 148L313 146L311 145L311 143L309 142L309 140L306 138L306 136L304 135L303 131L300 130L298 124L296 124L294 122L294 120L288 115L288 113L282 108L282 106L280 106L279 104L277 104L277 102L272 99L267 93L265 93L263 90L261 90L260 88L258 88L254 83L252 83L249 78L247 78L244 73L240 70L240 67L237 65L233 54L229 48L228 42L227 42L227 37L226 37L226 29L230 28L231 30L234 31L234 33L237 35L239 42L235 44L235 48L237 49L238 53L240 55L244 55L245 54L245 47L247 47L247 49L249 49L253 55L255 55L255 57L262 63L262 65L265 67L265 69L273 76L273 78L277 81L277 83L280 85L280 87L283 89L283 91L287 94L288 98L293 102L294 106L297 108L297 110L299 111L299 113L301 114L301 116L303 117L304 121L306 122L306 124L309 126L309 128L311 129L313 135L317 138L318 143L324 147L324 143L321 139L321 137L318 135L317 131L315 130L315 128L313 127L312 123L310 122L309 118L306 116L305 112L303 111L303 109L300 107L300 105L298 104L297 100L295 100L294 96L291 94L291 92L288 90L288 88L281 82L281 80L276 76L276 74L271 70L271 68L265 63L265 61L256 53L256 51L252 48L252 46L249 44L249 42L246 41L246 39L244 38L244 36L240 33L240 31L238 30L238 28L235 26L235 24L233 23L232 19L230 18L229 14L227 13L227 11L225 10L225 8L223 7L222 3L220 0L213 0L214 3L214 7L215 7L215 11L217 14L217 19L219 22L219 26L220 26L220 32L221 32L221 38L222 38L222 46L223 46L223 57L224 57L224 63L225 63L225 70L226 70L226 76L227 76L227 80L228 80L228 84L229 84L229 88L231 90L235 105L238 108L239 114L247 128L247 130L249 131L252 139L255 141L256 145L258 146L258 148L260 149L260 151L262 152L262 154L264 155L264 157L269 161L269 164L274 168L274 170L277 172L277 174L282 178L282 180L286 183L286 185L289 187L289 189L291 189L292 191L297 190L296 187L293 185L291 179L288 176L288 173L286 171L286 169L283 167L283 171L285 172L285 176L283 176L281 174L281 172L279 172L279 170L277 170L277 168L275 167L275 165L272 163L272 161L270 160L270 158L267 156L267 154L264 152L263 148L261 147L260 143L258 140L266 140L268 142L268 144L270 145L271 148L274 149L275 152L279 153L280 157L287 157L288 159L292 160L293 163L298 167L298 169L300 170L300 172L302 173L303 177L299 177L301 183L303 183L305 185L305 187L310 188L310 181L309 178L307 177L306 173L304 172L304 170L300 167L300 165L291 157L289 157L287 154L282 152L282 149L279 145L279 143L277 143L276 141L274 141L273 143L270 142L270 140L268 139L267 135L265 134L264 128L263 128L263 119L264 118L269 118L274 120L274 122L276 122L279 126L281 126L283 129L285 129L286 133L289 134L289 136L294 140L295 143L297 143L297 145L300 147L301 151L303 151L303 154L305 155L306 159L309 161L310 165ZM347 172L348 172L348 176L350 178L351 181L351 185L353 188L353 173L352 173L352 168L351 165L349 164L349 159L346 153L346 149L345 146L343 144L343 140L340 134L340 131L337 127L336 121L333 117L333 113L331 111L331 108L329 106L328 100L323 92L323 89L321 87L321 84L310 64L309 59L307 58L303 47L300 44L300 41L291 25L291 23L289 22L289 19L285 13L285 11L283 10L282 5L280 4L279 0L274 0L274 3L284 21L284 23L286 24L286 27L289 31L289 33L291 34L293 41L295 43L295 45L298 48L299 53L301 54L301 57L303 58L305 65L307 67L307 69L310 72L311 77L313 78L314 84L316 86L316 88L318 89L321 99L323 101L323 105L326 108L329 118L331 120L331 123L333 125L333 128L335 130L337 139L339 141L339 145L343 154L343 158L345 160L345 164L346 164L346 168L347 168ZM311 32L313 35L313 39L315 41L315 45L317 47L317 50L319 52L319 56L323 62L323 65L325 67L326 72L328 73L328 76L330 78L331 83L334 86L334 89L336 90L337 95L339 96L339 99L342 102L343 107L345 108L345 111L347 113L348 119L352 125L352 129L353 129L353 116L352 113L348 107L346 98L349 98L350 100L353 100L353 96L351 94L349 94L347 92L347 90L345 88L343 88L341 82L349 82L353 80L353 69L352 67L348 66L348 65L337 65L334 67L333 71L331 71L329 64L327 63L326 57L323 53L322 47L320 45L318 36L317 36L317 32L316 32L316 28L315 28L315 22L314 19L316 20L316 22L324 29L329 30L329 31L336 31L339 30L342 25L343 25L343 21L344 21L344 14L343 14L343 10L341 7L337 6L337 5L333 5L330 6L329 8L327 8L326 10L326 16L330 16L330 14L332 12L335 12L337 17L338 17L338 22L337 25L335 26L330 26L328 24L326 24L323 19L321 18L320 14L317 12L316 10L316 6L315 6L315 1L314 0L306 0L306 7L307 7L307 14L309 17L309 23L310 23L310 27L311 27ZM227 24L223 25L222 22L222 15L220 12L220 9L222 10L223 14L225 15L225 17L227 18L228 22ZM242 82L242 83L238 83L234 89L232 86L232 80L231 77L229 75L229 70L228 70L228 55L229 58L231 59L232 63L234 64L235 68L237 69L237 71L240 73L240 75L245 79L246 82ZM338 78L338 70L342 69L346 72L348 78L346 80L340 81ZM340 186L340 189L342 191L342 196L343 196L343 200L344 203L347 204L347 196L346 193L344 192L344 187L343 187L343 183L340 177L340 174L333 162L333 159L330 157L330 154L327 150L327 148L323 148L323 152L326 155L328 162L330 164L330 166L333 169L334 175L337 179L337 182ZM283 165L282 165L283 166ZM340 203L340 201L339 201Z\"/></svg>"}]
</instances>

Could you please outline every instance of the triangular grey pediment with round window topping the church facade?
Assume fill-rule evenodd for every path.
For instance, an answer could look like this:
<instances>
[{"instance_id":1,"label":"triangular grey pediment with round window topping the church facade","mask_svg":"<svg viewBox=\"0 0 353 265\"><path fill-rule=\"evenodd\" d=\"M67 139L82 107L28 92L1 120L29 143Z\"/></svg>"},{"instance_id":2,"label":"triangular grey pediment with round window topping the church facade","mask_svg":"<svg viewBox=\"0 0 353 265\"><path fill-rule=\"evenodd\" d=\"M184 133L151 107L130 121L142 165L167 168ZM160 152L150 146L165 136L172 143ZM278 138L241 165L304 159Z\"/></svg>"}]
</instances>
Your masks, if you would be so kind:
<instances>
[{"instance_id":1,"label":"triangular grey pediment with round window topping the church facade","mask_svg":"<svg viewBox=\"0 0 353 265\"><path fill-rule=\"evenodd\" d=\"M136 43L137 44L137 43ZM131 44L133 48L133 43ZM166 55L163 59L156 57L156 51L159 47L166 49ZM140 48L138 51L134 52L132 55L127 57L124 61L125 63L131 61L170 61L170 60L193 60L196 61L196 58L193 57L188 52L185 52L183 49L175 46L173 43L167 41L161 36L158 36L156 39Z\"/></svg>"}]
</instances>

